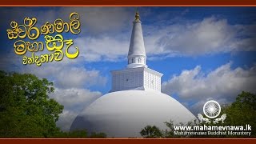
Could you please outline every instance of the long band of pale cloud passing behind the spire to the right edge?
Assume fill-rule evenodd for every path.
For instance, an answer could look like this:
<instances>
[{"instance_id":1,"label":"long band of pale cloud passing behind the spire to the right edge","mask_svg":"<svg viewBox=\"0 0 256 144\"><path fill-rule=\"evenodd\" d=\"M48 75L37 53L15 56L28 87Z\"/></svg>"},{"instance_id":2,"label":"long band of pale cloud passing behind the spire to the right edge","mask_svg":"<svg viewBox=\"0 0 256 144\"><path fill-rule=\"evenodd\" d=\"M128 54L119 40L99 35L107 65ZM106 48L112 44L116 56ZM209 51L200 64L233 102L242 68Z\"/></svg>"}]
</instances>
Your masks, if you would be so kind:
<instances>
[{"instance_id":1,"label":"long band of pale cloud passing behind the spire to the right edge","mask_svg":"<svg viewBox=\"0 0 256 144\"><path fill-rule=\"evenodd\" d=\"M226 19L210 17L169 26L142 26L149 59L254 51L256 45L254 25L230 25ZM130 31L95 38L85 36L75 41L85 47L83 56L87 61L123 60L129 49Z\"/></svg>"}]
</instances>

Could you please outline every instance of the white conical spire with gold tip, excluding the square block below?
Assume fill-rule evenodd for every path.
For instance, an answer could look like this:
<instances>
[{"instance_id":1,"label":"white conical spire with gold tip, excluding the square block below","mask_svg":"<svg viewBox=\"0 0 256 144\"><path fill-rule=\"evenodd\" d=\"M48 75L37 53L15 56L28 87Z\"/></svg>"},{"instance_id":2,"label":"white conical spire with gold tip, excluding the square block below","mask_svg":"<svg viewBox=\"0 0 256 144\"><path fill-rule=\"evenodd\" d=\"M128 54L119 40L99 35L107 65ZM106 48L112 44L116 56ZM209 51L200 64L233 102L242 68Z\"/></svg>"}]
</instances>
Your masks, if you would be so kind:
<instances>
[{"instance_id":1,"label":"white conical spire with gold tip, excluding the square block below","mask_svg":"<svg viewBox=\"0 0 256 144\"><path fill-rule=\"evenodd\" d=\"M142 34L142 22L138 14L138 9L135 13L135 20L133 22L133 30L130 38L130 48L128 53L128 68L147 67L146 66L146 52L144 46L144 39Z\"/></svg>"}]
</instances>

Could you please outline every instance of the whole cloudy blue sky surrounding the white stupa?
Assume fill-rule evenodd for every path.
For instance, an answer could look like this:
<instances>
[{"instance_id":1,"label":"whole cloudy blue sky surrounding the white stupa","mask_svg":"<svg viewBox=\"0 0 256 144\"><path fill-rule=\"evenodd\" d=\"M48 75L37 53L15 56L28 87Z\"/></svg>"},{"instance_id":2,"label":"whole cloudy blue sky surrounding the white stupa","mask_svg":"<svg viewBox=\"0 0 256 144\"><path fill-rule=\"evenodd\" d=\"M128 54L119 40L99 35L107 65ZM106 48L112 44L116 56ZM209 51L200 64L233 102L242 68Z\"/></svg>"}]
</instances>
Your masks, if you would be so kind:
<instances>
[{"instance_id":1,"label":"whole cloudy blue sky surrounding the white stupa","mask_svg":"<svg viewBox=\"0 0 256 144\"><path fill-rule=\"evenodd\" d=\"M111 87L110 70L126 67L135 7L0 8L0 70L36 74L54 81L50 94L65 106L58 122L68 130L75 116ZM38 26L80 14L81 33L63 34L78 46L78 58L24 66L6 35L10 22L38 18ZM255 93L255 7L139 7L147 65L164 74L162 92L191 112L209 99L230 103L242 90ZM42 41L42 37L38 41ZM47 53L46 51L44 51ZM28 54L30 55L30 54Z\"/></svg>"}]
</instances>

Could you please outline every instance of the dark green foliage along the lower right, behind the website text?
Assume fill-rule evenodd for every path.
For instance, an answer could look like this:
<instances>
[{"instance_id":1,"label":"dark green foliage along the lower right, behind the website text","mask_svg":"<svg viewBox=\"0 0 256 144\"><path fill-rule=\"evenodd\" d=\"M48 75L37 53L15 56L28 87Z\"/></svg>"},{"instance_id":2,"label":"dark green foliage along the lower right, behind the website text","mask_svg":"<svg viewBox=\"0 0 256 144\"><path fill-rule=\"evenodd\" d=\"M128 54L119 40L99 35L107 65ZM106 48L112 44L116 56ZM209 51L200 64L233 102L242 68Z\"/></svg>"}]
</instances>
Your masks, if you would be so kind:
<instances>
[{"instance_id":1,"label":"dark green foliage along the lower right, behind the website text","mask_svg":"<svg viewBox=\"0 0 256 144\"><path fill-rule=\"evenodd\" d=\"M170 120L170 122L165 122L168 129L159 130L156 126L146 126L142 131L141 135L143 138L248 138L248 136L243 135L175 135L174 134L174 126L246 126L249 124L251 126L251 134L250 138L256 138L256 95L251 94L249 92L242 91L241 94L238 94L235 102L230 105L222 106L222 112L220 115L226 114L225 123L219 122L218 124L206 124L206 123L198 123L198 122L188 122L188 123L179 123L178 125L174 125L174 122ZM154 127L154 129L153 129ZM162 132L162 134L154 134L155 132Z\"/></svg>"}]
</instances>

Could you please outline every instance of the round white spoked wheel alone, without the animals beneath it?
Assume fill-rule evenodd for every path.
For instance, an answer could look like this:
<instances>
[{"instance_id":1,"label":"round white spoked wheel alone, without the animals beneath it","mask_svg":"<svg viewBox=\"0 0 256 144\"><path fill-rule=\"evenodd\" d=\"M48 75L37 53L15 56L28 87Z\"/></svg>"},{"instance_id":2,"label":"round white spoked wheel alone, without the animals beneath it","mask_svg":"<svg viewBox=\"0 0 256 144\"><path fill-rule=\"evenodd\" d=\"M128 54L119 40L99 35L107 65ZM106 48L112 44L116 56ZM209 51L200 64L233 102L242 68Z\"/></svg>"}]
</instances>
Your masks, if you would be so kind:
<instances>
[{"instance_id":1,"label":"round white spoked wheel alone, without the animals beneath it","mask_svg":"<svg viewBox=\"0 0 256 144\"><path fill-rule=\"evenodd\" d=\"M216 101L208 101L203 106L203 113L208 118L216 118L221 113L221 106Z\"/></svg>"}]
</instances>

